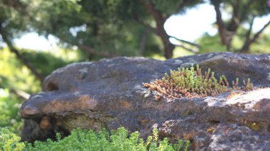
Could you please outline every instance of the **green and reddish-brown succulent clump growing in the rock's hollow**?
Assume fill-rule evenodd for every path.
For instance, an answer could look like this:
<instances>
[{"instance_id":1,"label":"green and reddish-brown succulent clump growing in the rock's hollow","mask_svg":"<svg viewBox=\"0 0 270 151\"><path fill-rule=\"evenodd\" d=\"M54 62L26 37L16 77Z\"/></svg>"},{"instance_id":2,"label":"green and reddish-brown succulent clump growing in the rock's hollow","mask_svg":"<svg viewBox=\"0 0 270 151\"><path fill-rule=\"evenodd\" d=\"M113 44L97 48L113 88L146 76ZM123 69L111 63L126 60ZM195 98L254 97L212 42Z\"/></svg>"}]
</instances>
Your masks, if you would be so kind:
<instances>
[{"instance_id":1,"label":"green and reddish-brown succulent clump growing in the rock's hollow","mask_svg":"<svg viewBox=\"0 0 270 151\"><path fill-rule=\"evenodd\" d=\"M178 68L178 70L170 69L170 75L165 73L162 79L156 79L155 82L143 83L150 91L156 91L155 99L168 97L169 99L181 97L205 97L217 96L222 92L233 90L249 91L253 89L250 79L247 82L243 80L243 86L239 87L239 78L235 82L232 81L232 87L229 86L225 75L219 80L215 78L215 72L211 72L209 68L207 72L202 74L202 69L196 65L189 68Z\"/></svg>"}]
</instances>

